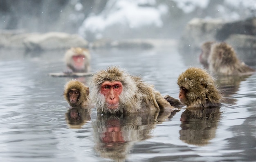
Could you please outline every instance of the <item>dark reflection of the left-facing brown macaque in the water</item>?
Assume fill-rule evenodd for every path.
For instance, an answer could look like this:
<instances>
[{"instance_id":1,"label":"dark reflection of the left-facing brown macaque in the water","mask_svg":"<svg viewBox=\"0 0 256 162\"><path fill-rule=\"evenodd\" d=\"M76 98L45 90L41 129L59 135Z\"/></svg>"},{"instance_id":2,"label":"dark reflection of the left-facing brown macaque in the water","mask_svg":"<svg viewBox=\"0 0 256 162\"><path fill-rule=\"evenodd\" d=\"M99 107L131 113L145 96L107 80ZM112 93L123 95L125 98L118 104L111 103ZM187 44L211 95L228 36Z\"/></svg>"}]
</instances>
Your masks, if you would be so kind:
<instances>
[{"instance_id":1,"label":"dark reflection of the left-facing brown macaque in the water","mask_svg":"<svg viewBox=\"0 0 256 162\"><path fill-rule=\"evenodd\" d=\"M199 146L208 144L215 137L220 115L220 107L186 109L180 118L180 140Z\"/></svg>"}]
</instances>

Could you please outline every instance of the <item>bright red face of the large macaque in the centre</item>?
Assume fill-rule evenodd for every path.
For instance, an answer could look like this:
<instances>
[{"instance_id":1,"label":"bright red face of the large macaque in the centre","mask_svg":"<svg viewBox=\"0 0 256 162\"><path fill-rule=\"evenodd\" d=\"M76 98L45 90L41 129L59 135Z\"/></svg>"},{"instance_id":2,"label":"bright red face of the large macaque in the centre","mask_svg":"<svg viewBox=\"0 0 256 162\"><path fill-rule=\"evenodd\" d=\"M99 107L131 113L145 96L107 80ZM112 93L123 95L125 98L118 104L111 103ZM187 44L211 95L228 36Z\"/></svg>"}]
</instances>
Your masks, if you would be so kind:
<instances>
[{"instance_id":1,"label":"bright red face of the large macaque in the centre","mask_svg":"<svg viewBox=\"0 0 256 162\"><path fill-rule=\"evenodd\" d=\"M119 95L122 90L123 85L120 81L105 81L101 84L101 94L105 96L109 109L117 109L119 107Z\"/></svg>"}]
</instances>

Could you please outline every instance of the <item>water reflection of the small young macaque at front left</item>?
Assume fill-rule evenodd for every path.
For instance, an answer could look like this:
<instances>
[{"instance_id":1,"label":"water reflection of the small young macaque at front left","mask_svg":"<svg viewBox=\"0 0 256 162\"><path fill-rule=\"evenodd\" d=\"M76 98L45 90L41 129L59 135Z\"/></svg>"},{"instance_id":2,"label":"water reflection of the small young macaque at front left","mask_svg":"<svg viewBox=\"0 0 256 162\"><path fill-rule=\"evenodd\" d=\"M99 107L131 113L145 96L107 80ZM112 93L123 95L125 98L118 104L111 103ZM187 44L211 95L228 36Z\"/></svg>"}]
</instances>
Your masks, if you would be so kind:
<instances>
[{"instance_id":1,"label":"water reflection of the small young macaque at front left","mask_svg":"<svg viewBox=\"0 0 256 162\"><path fill-rule=\"evenodd\" d=\"M70 107L65 116L67 125L73 129L80 129L87 121L91 120L91 109Z\"/></svg>"}]
</instances>

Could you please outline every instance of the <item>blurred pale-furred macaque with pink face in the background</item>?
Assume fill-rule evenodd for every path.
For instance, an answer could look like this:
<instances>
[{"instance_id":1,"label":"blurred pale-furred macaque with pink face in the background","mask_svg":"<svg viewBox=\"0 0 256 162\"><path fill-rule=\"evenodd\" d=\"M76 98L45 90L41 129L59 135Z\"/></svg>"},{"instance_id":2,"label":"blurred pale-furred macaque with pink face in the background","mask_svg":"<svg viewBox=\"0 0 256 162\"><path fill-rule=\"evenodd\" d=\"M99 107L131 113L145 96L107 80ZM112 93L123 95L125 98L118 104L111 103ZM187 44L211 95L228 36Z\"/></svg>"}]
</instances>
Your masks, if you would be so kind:
<instances>
[{"instance_id":1,"label":"blurred pale-furred macaque with pink face in the background","mask_svg":"<svg viewBox=\"0 0 256 162\"><path fill-rule=\"evenodd\" d=\"M67 72L89 72L90 71L90 53L85 48L70 48L65 53L65 62L70 70Z\"/></svg>"}]
</instances>

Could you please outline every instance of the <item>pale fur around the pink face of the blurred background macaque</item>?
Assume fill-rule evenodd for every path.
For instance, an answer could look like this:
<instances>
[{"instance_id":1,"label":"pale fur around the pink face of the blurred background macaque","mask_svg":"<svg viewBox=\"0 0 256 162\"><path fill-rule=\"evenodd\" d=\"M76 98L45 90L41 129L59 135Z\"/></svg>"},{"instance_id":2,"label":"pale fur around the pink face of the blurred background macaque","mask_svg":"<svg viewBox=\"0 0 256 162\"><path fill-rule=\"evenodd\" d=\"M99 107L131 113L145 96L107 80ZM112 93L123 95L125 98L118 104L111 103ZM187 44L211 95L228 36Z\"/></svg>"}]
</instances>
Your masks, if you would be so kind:
<instances>
[{"instance_id":1,"label":"pale fur around the pink face of the blurred background macaque","mask_svg":"<svg viewBox=\"0 0 256 162\"><path fill-rule=\"evenodd\" d=\"M83 55L85 57L85 63L83 69L79 70L76 69L74 65L74 61L72 59L72 56L76 55ZM89 72L90 71L90 52L86 48L80 48L80 47L72 47L65 53L65 62L67 67L69 67L73 72Z\"/></svg>"}]
</instances>

